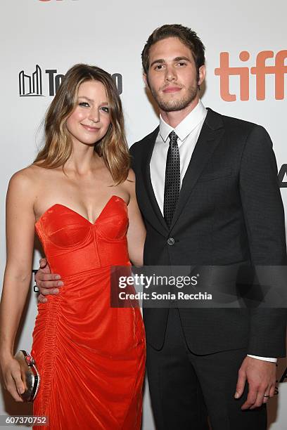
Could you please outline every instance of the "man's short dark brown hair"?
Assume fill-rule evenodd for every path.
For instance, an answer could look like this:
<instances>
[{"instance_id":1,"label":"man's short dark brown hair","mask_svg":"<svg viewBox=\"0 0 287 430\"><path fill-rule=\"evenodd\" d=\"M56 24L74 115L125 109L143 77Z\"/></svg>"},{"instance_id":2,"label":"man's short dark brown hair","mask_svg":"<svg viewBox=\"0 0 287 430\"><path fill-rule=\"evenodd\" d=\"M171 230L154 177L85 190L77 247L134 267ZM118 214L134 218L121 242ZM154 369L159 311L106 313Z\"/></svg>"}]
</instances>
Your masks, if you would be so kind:
<instances>
[{"instance_id":1,"label":"man's short dark brown hair","mask_svg":"<svg viewBox=\"0 0 287 430\"><path fill-rule=\"evenodd\" d=\"M196 63L196 70L198 74L199 67L205 64L205 46L196 32L193 32L193 30L191 30L189 27L184 27L180 24L162 25L162 27L156 28L151 33L151 36L148 37L148 40L146 41L144 49L141 53L141 60L145 74L148 74L149 51L151 46L162 39L167 39L167 37L177 37L177 39L179 39L191 50L193 59Z\"/></svg>"}]
</instances>

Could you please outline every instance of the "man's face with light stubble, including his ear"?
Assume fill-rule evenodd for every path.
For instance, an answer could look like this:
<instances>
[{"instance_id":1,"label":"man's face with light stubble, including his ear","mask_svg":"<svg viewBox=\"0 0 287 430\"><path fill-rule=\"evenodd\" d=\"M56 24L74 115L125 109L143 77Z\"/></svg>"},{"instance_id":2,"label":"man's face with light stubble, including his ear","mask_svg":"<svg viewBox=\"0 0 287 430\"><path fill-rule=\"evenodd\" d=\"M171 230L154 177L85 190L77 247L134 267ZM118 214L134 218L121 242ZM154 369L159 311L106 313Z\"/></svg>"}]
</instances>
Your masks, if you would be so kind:
<instances>
[{"instance_id":1,"label":"man's face with light stubble, including his ear","mask_svg":"<svg viewBox=\"0 0 287 430\"><path fill-rule=\"evenodd\" d=\"M183 110L198 99L205 66L200 67L198 79L191 50L177 37L156 42L149 58L148 77L144 75L144 80L161 110Z\"/></svg>"}]
</instances>

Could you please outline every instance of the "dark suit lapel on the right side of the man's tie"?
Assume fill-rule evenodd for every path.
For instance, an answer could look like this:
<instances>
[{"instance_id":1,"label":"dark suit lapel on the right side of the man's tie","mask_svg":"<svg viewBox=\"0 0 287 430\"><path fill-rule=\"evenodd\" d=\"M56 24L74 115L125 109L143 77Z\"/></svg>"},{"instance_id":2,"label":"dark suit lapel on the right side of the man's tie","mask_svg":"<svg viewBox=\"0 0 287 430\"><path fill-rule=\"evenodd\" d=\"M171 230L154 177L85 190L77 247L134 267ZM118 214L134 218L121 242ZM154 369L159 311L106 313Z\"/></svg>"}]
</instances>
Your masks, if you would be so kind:
<instances>
[{"instance_id":1,"label":"dark suit lapel on the right side of the man's tie","mask_svg":"<svg viewBox=\"0 0 287 430\"><path fill-rule=\"evenodd\" d=\"M223 134L224 128L221 115L208 109L208 114L206 115L205 122L200 131L196 147L193 150L189 167L182 181L179 201L177 202L170 228L172 228L179 219L181 211L184 209L187 200L191 196L200 174L203 172L205 165L208 164Z\"/></svg>"}]
</instances>

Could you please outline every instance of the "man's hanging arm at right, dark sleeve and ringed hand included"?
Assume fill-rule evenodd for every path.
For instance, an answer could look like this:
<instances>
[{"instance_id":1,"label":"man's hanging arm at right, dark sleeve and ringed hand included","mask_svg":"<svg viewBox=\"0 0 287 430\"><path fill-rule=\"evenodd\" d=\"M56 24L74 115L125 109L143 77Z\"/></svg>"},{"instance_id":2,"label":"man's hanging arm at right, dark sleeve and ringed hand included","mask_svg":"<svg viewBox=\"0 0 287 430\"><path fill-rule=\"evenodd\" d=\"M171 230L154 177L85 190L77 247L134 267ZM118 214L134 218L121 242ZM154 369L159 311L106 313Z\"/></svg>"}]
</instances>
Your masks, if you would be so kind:
<instances>
[{"instance_id":1,"label":"man's hanging arm at right, dark sleeve and ringed hand included","mask_svg":"<svg viewBox=\"0 0 287 430\"><path fill-rule=\"evenodd\" d=\"M272 141L261 126L253 127L245 143L240 192L253 265L285 265L285 223L276 159ZM250 309L250 355L284 356L285 337L286 309ZM242 409L256 408L274 395L276 364L257 358L246 357L238 372L235 397L242 395L246 381L249 384Z\"/></svg>"}]
</instances>

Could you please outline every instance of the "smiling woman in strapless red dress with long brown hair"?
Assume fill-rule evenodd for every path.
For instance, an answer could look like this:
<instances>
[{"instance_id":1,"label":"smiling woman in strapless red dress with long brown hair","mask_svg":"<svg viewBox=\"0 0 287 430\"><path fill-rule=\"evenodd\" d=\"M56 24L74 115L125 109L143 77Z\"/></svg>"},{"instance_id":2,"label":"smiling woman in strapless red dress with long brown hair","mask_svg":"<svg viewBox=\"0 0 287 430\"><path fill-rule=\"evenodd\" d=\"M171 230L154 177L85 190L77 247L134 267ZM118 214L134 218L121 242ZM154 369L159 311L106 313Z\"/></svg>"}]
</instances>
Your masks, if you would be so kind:
<instances>
[{"instance_id":1,"label":"smiling woman in strapless red dress with long brown hair","mask_svg":"<svg viewBox=\"0 0 287 430\"><path fill-rule=\"evenodd\" d=\"M1 299L4 386L21 401L14 339L30 287L34 229L63 287L38 304L31 354L37 429L140 429L145 337L137 307L110 306L111 266L141 265L145 229L122 106L110 74L75 65L46 115L46 143L7 194Z\"/></svg>"}]
</instances>

